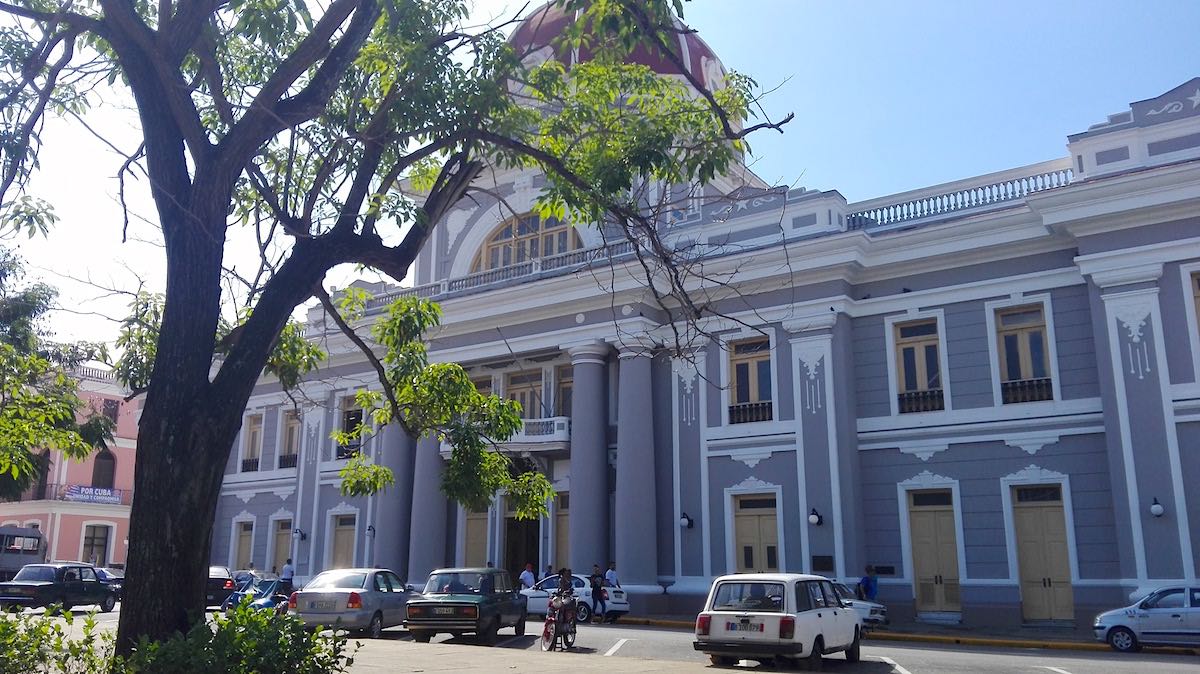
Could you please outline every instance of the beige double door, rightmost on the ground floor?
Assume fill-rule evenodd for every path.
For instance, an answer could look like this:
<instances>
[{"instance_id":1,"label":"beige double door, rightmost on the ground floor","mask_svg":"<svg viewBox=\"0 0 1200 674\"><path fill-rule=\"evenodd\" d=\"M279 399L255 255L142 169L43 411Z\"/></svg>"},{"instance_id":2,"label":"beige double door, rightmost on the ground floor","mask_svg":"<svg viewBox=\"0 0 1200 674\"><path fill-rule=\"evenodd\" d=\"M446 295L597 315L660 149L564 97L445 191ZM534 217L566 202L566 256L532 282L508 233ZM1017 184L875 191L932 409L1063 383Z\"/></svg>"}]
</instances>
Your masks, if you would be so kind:
<instances>
[{"instance_id":1,"label":"beige double door, rightmost on the ground floor","mask_svg":"<svg viewBox=\"0 0 1200 674\"><path fill-rule=\"evenodd\" d=\"M1013 524L1025 620L1073 620L1067 519L1062 487L1013 487Z\"/></svg>"}]
</instances>

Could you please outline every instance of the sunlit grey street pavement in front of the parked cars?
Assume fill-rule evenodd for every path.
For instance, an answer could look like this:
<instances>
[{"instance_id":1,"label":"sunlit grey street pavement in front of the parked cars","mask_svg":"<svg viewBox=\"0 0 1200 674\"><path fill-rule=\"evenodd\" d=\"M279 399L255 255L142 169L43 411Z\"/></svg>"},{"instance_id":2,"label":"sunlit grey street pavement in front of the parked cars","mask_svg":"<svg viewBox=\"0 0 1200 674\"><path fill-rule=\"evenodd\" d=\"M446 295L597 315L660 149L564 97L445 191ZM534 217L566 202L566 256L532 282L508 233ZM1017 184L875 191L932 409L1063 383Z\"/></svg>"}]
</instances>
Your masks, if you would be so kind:
<instances>
[{"instance_id":1,"label":"sunlit grey street pavement in front of the parked cars","mask_svg":"<svg viewBox=\"0 0 1200 674\"><path fill-rule=\"evenodd\" d=\"M97 613L101 628L115 630L120 607L112 613ZM40 612L38 612L40 613ZM84 610L76 610L83 618ZM77 621L78 626L79 622ZM74 630L73 630L74 631ZM743 661L736 668L716 668L692 650L689 631L664 627L617 625L581 625L571 652L542 652L536 634L541 621L530 620L526 636L500 632L494 648L475 643L472 637L434 637L431 644L418 644L402 627L384 631L382 639L353 637L361 644L350 669L373 672L545 672L566 668L580 672L647 672L655 674L720 670L774 670ZM982 649L940 644L896 642L863 643L863 661L846 662L841 654L824 660L824 670L854 674L959 674L962 672L1024 674L1177 674L1200 673L1200 656L1106 651L1069 651L1048 649Z\"/></svg>"}]
</instances>

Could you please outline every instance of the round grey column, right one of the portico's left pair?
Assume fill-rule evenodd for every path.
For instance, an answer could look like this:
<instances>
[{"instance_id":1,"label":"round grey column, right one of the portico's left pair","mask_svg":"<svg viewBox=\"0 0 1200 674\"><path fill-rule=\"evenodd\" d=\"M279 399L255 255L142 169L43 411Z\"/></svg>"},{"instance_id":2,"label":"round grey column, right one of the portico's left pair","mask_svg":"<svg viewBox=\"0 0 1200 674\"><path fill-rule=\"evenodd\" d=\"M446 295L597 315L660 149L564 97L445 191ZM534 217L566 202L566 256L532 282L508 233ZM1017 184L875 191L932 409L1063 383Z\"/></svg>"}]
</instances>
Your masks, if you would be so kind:
<instances>
[{"instance_id":1,"label":"round grey column, right one of the portico's left pair","mask_svg":"<svg viewBox=\"0 0 1200 674\"><path fill-rule=\"evenodd\" d=\"M413 461L413 518L408 540L408 582L424 586L430 571L445 565L446 498L442 493L442 444L416 441Z\"/></svg>"}]
</instances>

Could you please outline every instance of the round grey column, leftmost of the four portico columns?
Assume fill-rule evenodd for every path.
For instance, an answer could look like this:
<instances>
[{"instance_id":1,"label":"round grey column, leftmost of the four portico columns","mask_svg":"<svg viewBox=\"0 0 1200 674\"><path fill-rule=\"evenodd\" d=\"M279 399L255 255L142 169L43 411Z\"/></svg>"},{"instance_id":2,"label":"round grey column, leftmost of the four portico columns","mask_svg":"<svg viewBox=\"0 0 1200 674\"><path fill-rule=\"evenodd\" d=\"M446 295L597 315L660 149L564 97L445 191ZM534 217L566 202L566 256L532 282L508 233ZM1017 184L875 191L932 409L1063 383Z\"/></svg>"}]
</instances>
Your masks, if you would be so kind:
<instances>
[{"instance_id":1,"label":"round grey column, leftmost of the four portico columns","mask_svg":"<svg viewBox=\"0 0 1200 674\"><path fill-rule=\"evenodd\" d=\"M413 517L413 445L415 443L398 423L379 429L379 453L376 462L386 467L396 485L376 494L374 564L408 577L408 541Z\"/></svg>"}]
</instances>

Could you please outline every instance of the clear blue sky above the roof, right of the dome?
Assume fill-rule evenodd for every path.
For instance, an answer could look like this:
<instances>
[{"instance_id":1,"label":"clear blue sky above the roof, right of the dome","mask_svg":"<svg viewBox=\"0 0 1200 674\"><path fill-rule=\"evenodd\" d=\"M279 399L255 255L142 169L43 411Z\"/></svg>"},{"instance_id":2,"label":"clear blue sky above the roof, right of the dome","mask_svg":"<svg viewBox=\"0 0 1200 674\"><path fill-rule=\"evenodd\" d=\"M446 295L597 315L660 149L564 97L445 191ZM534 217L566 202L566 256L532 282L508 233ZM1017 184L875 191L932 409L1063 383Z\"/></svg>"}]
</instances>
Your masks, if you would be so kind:
<instances>
[{"instance_id":1,"label":"clear blue sky above the roof, right of the dome","mask_svg":"<svg viewBox=\"0 0 1200 674\"><path fill-rule=\"evenodd\" d=\"M727 68L796 113L774 183L851 201L1067 155L1067 134L1200 76L1200 1L695 0Z\"/></svg>"}]
</instances>

